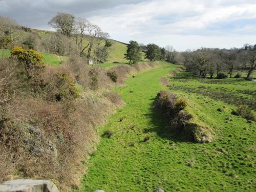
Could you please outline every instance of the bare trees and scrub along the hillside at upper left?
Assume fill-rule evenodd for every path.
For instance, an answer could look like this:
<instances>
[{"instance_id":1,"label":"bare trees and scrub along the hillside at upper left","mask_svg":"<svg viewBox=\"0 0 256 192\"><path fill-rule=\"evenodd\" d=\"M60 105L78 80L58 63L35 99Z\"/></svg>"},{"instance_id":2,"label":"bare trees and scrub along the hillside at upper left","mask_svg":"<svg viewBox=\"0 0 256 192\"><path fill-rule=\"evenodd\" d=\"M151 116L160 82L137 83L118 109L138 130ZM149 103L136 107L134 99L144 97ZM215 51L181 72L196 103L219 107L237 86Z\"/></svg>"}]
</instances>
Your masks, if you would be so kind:
<instances>
[{"instance_id":1,"label":"bare trees and scrub along the hillside at upper left","mask_svg":"<svg viewBox=\"0 0 256 192\"><path fill-rule=\"evenodd\" d=\"M57 33L45 31L47 35L38 40L38 35L24 35L22 32L32 32L30 28L20 26L8 17L0 16L0 48L11 49L18 45L62 56L76 54L96 62L103 62L108 57L109 48L112 46L108 40L109 33L89 20L69 13L58 13L48 25L57 29Z\"/></svg>"}]
</instances>

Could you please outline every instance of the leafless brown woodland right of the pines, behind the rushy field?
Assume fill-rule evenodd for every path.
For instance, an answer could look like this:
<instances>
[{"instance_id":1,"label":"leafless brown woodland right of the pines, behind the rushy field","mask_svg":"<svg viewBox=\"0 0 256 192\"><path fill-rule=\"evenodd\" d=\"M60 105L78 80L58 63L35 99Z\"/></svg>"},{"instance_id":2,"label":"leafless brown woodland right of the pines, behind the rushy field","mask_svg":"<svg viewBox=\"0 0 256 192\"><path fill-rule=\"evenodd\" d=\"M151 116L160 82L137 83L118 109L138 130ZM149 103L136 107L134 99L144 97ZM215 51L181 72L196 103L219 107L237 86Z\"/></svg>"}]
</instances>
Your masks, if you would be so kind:
<instances>
[{"instance_id":1,"label":"leafless brown woodland right of the pines, behind the rushy field","mask_svg":"<svg viewBox=\"0 0 256 192\"><path fill-rule=\"evenodd\" d=\"M249 80L256 68L256 45L245 44L242 48L232 49L200 48L181 55L187 70L198 77L209 75L212 78L216 74L217 78L231 78L234 72L246 71ZM237 73L235 77L240 78L241 74Z\"/></svg>"}]
</instances>

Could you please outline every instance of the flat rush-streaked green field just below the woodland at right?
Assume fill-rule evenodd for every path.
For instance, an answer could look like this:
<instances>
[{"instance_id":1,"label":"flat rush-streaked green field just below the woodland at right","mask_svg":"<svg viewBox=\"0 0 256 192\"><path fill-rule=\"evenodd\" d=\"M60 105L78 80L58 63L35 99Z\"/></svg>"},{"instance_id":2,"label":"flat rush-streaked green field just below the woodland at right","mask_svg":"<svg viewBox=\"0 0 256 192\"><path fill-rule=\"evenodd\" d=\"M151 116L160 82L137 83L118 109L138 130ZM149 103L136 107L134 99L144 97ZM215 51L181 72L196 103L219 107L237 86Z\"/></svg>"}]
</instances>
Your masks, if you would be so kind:
<instances>
[{"instance_id":1,"label":"flat rush-streaked green field just below the woodland at right","mask_svg":"<svg viewBox=\"0 0 256 192\"><path fill-rule=\"evenodd\" d=\"M170 88L199 93L229 104L247 104L252 109L256 109L256 83L253 81L246 81L243 78L200 79L185 77L188 77L187 72L177 74L170 83ZM190 74L189 77L191 77ZM200 89L200 87L204 87L204 89Z\"/></svg>"}]
</instances>

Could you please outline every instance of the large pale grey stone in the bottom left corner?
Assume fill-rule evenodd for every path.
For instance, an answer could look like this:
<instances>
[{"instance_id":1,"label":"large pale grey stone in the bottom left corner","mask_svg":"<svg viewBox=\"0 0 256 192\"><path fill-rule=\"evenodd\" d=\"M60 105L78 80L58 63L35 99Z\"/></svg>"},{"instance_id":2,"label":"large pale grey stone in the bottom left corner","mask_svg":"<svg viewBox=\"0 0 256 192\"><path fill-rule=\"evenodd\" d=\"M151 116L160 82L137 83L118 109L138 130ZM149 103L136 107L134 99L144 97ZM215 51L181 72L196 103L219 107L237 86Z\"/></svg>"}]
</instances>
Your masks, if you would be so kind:
<instances>
[{"instance_id":1,"label":"large pale grey stone in the bottom left corner","mask_svg":"<svg viewBox=\"0 0 256 192\"><path fill-rule=\"evenodd\" d=\"M0 184L0 192L58 192L58 189L52 181L17 179Z\"/></svg>"}]
</instances>

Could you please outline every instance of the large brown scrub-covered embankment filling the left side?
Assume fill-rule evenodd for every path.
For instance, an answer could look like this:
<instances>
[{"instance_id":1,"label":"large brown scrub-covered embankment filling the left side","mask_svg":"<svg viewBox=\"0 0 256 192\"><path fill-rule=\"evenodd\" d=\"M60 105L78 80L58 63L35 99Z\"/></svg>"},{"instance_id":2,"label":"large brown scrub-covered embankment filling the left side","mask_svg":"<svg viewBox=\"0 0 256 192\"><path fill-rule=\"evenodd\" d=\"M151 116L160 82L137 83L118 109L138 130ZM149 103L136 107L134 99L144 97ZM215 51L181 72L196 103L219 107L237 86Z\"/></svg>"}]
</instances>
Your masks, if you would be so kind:
<instances>
[{"instance_id":1,"label":"large brown scrub-covered embankment filling the left side","mask_svg":"<svg viewBox=\"0 0 256 192\"><path fill-rule=\"evenodd\" d=\"M0 61L0 182L47 179L62 191L78 188L99 140L95 126L123 105L116 93L102 94L115 83L79 57L44 68L18 58ZM131 72L139 70L129 67L119 82Z\"/></svg>"}]
</instances>

